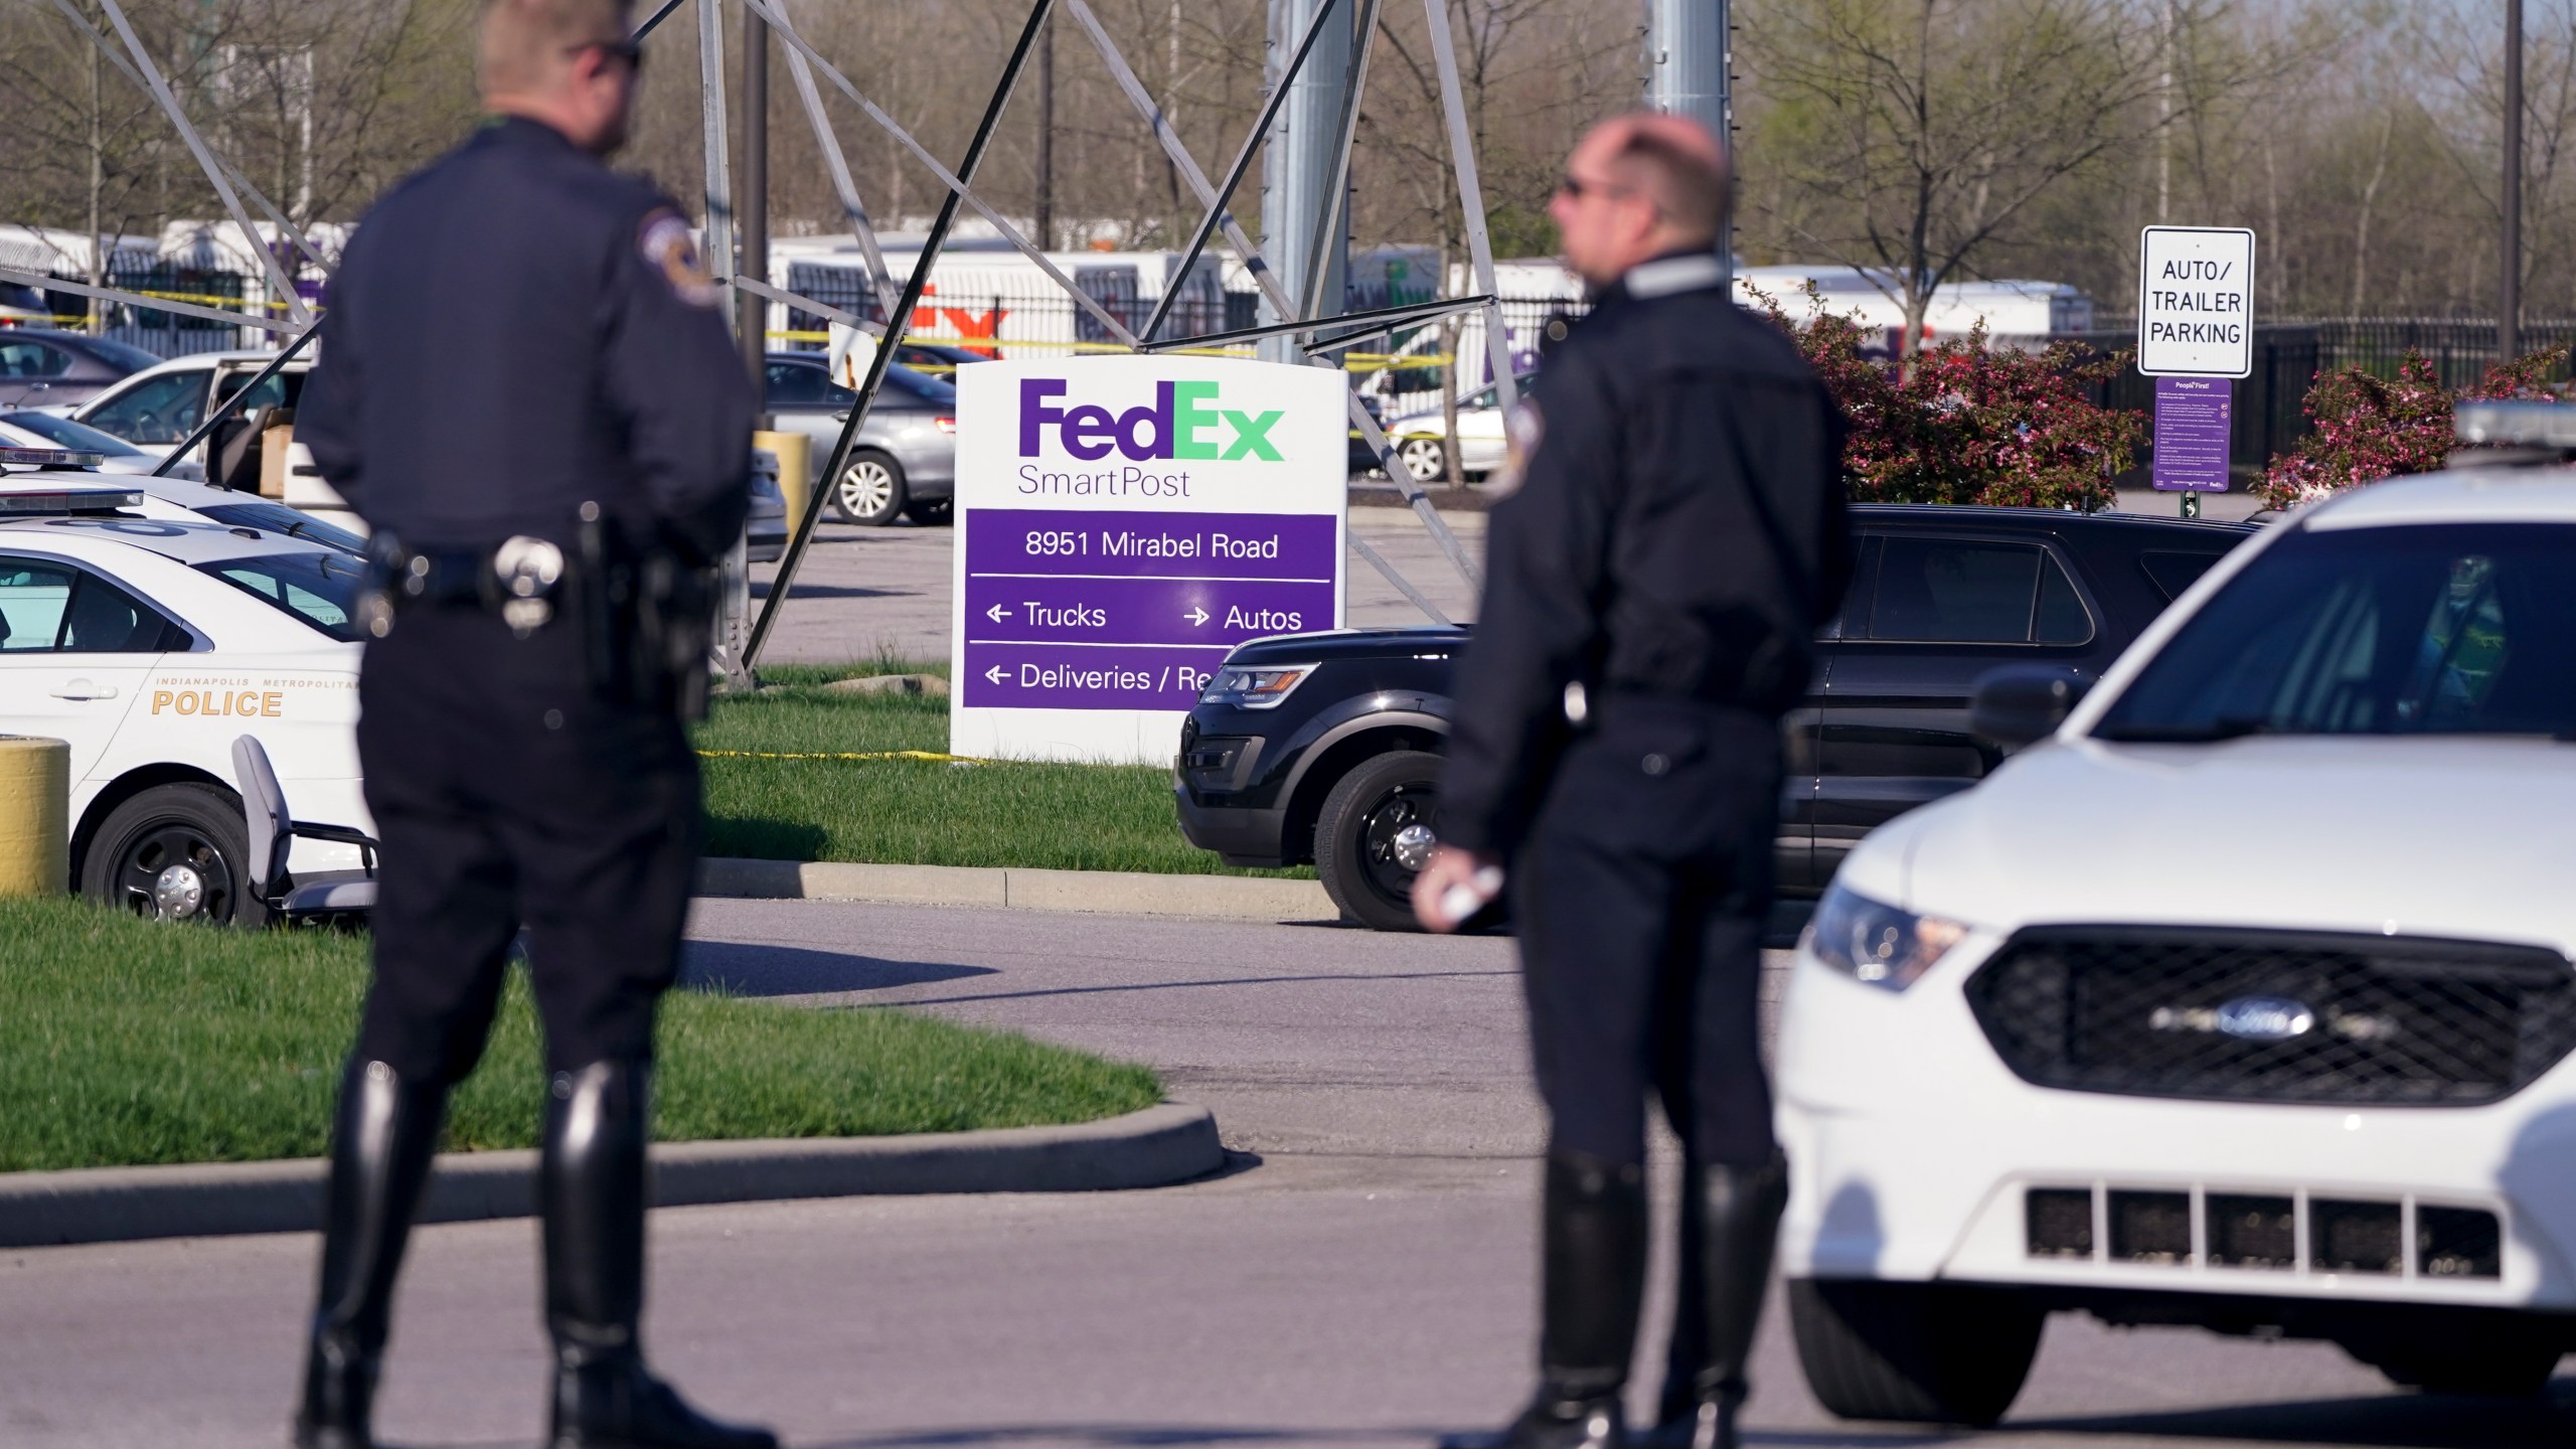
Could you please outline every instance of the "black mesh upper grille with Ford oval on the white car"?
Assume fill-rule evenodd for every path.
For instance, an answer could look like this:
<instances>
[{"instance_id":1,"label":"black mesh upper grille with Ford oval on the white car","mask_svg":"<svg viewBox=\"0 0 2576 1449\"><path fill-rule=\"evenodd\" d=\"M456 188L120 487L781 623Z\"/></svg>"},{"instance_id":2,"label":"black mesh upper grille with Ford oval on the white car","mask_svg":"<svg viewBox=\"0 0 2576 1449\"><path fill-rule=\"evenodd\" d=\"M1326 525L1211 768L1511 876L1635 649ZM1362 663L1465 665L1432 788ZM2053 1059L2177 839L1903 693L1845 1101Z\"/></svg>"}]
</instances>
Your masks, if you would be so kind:
<instances>
[{"instance_id":1,"label":"black mesh upper grille with Ford oval on the white car","mask_svg":"<svg viewBox=\"0 0 2576 1449\"><path fill-rule=\"evenodd\" d=\"M2576 1047L2566 957L2414 936L2045 926L1968 1006L2022 1080L2125 1096L2476 1106Z\"/></svg>"}]
</instances>

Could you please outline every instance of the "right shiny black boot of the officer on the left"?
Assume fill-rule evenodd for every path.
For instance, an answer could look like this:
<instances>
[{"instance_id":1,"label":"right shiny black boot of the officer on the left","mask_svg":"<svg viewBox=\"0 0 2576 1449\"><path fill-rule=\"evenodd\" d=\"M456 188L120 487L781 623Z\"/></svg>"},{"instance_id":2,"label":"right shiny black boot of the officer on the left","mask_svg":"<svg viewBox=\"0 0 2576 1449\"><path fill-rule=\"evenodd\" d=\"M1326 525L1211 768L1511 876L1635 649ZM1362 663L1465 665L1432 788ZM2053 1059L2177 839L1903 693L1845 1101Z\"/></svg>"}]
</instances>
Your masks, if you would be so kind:
<instances>
[{"instance_id":1,"label":"right shiny black boot of the officer on the left","mask_svg":"<svg viewBox=\"0 0 2576 1449\"><path fill-rule=\"evenodd\" d=\"M546 1328L554 1333L554 1449L778 1449L768 1428L719 1423L644 1366L641 1062L556 1073L538 1199L546 1214Z\"/></svg>"}]
</instances>

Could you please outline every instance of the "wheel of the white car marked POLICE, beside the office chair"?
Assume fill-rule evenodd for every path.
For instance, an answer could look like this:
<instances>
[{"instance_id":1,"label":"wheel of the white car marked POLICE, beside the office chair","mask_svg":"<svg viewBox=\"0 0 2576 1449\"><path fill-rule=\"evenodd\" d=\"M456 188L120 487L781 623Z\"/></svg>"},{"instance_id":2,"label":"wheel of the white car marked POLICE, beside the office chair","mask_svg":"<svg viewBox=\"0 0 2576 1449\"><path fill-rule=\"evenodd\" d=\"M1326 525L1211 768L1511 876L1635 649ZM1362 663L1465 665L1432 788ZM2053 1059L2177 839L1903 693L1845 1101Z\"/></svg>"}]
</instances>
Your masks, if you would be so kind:
<instances>
[{"instance_id":1,"label":"wheel of the white car marked POLICE, beside the office chair","mask_svg":"<svg viewBox=\"0 0 2576 1449\"><path fill-rule=\"evenodd\" d=\"M155 920L268 920L242 807L209 784L152 786L111 810L82 853L80 892Z\"/></svg>"}]
</instances>

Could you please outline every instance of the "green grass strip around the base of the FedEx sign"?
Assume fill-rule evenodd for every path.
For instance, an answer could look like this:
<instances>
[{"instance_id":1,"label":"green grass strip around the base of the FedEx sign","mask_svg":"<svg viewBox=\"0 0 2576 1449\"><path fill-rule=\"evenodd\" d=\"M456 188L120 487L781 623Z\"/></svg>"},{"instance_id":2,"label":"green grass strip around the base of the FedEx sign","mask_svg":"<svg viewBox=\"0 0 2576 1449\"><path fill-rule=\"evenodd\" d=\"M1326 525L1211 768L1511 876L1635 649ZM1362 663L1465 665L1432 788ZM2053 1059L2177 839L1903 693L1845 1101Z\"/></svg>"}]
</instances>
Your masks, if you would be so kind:
<instances>
[{"instance_id":1,"label":"green grass strip around the base of the FedEx sign","mask_svg":"<svg viewBox=\"0 0 2576 1449\"><path fill-rule=\"evenodd\" d=\"M775 665L752 696L719 696L701 750L948 750L948 701L835 694L827 681L902 665ZM927 670L927 673L945 673ZM912 866L1043 866L1069 871L1242 871L1180 838L1172 771L940 761L708 758L711 856L878 861Z\"/></svg>"}]
</instances>

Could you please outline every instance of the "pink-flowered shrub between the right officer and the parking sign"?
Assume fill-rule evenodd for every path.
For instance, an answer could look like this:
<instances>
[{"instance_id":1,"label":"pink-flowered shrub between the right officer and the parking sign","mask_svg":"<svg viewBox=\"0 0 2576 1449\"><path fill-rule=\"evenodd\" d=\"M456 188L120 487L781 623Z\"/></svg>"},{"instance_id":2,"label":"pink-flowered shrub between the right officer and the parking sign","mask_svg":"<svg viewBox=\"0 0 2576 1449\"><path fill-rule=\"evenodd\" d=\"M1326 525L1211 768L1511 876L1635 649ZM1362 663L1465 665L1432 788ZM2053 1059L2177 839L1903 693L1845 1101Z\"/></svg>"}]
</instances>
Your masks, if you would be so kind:
<instances>
[{"instance_id":1,"label":"pink-flowered shrub between the right officer and the parking sign","mask_svg":"<svg viewBox=\"0 0 2576 1449\"><path fill-rule=\"evenodd\" d=\"M1978 325L1899 369L1865 356L1860 325L1826 312L1814 286L1803 325L1777 299L1754 297L1850 418L1842 462L1855 503L2110 508L2112 477L2146 441L2138 413L2087 397L2128 366L2128 353L2102 358L2076 343L1989 351Z\"/></svg>"}]
</instances>

